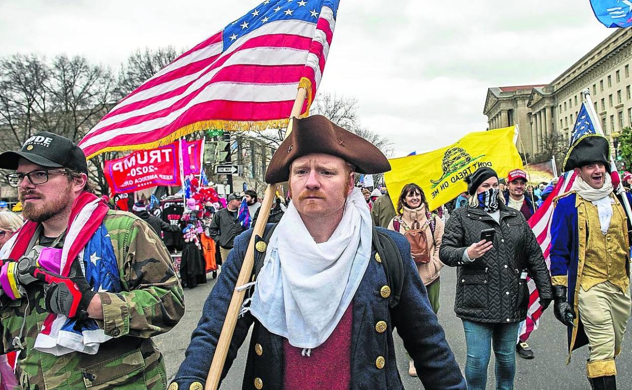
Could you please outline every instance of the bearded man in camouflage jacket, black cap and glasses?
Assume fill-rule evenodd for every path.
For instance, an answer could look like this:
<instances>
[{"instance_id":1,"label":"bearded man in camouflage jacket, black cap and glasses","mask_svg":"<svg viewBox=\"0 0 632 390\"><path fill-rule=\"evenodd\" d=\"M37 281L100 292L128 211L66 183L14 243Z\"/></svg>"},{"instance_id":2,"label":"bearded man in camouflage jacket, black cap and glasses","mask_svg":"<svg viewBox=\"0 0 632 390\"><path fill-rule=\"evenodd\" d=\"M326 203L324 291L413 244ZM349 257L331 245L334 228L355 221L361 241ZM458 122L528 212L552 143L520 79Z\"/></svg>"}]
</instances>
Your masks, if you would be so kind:
<instances>
[{"instance_id":1,"label":"bearded man in camouflage jacket, black cap and glasses","mask_svg":"<svg viewBox=\"0 0 632 390\"><path fill-rule=\"evenodd\" d=\"M16 169L8 176L9 184L18 187L25 219L39 222L37 243L61 245L73 202L89 190L81 149L67 138L42 132L29 138L20 152L1 154L0 168ZM4 353L19 351L17 388L166 388L164 358L151 337L169 331L185 311L171 257L152 228L133 214L108 210L102 221L112 242L121 291L94 293L85 312L112 338L101 343L95 355L55 356L35 350L35 339L51 312L45 300L51 293L42 283L28 284L22 298L4 300L0 309Z\"/></svg>"}]
</instances>

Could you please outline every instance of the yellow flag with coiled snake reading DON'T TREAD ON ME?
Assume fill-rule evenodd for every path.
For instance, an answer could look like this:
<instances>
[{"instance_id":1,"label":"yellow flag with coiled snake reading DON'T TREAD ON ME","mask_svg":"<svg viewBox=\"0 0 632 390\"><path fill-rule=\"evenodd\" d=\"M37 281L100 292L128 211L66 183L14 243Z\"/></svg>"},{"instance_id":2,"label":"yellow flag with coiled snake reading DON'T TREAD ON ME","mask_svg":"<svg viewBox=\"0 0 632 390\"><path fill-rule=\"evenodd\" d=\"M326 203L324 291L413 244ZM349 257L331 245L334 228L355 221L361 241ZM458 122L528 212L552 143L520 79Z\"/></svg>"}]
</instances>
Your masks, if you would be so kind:
<instances>
[{"instance_id":1,"label":"yellow flag with coiled snake reading DON'T TREAD ON ME","mask_svg":"<svg viewBox=\"0 0 632 390\"><path fill-rule=\"evenodd\" d=\"M408 183L423 188L430 210L467 190L463 179L480 167L494 169L499 178L523 168L515 144L514 126L470 133L447 147L418 155L391 159L391 171L384 174L393 205Z\"/></svg>"}]
</instances>

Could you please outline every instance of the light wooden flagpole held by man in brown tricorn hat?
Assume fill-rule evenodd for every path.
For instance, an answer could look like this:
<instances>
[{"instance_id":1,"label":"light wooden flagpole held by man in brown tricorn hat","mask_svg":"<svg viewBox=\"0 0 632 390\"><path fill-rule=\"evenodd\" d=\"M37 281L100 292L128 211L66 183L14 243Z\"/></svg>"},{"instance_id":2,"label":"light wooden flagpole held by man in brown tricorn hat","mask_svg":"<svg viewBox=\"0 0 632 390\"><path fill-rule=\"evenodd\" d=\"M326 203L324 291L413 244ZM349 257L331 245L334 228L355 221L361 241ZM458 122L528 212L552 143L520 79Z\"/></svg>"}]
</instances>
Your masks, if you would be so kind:
<instances>
[{"instance_id":1,"label":"light wooden flagpole held by man in brown tricorn hat","mask_svg":"<svg viewBox=\"0 0 632 390\"><path fill-rule=\"evenodd\" d=\"M285 133L286 138L292 131L291 119L298 117L301 114L301 109L303 108L303 103L305 102L306 97L307 90L305 88L299 88L298 94L296 94L296 100L294 101L294 106L289 114L290 121L288 123L288 130ZM250 243L248 243L248 250L246 250L246 257L243 259L243 264L241 265L241 271L237 278L237 284L235 285L236 287L243 286L250 281L252 267L255 264L255 236L264 235L265 224L267 223L268 216L270 215L272 202L274 202L276 188L276 184L269 184L267 188L265 188L264 201L259 208L259 216L257 217L257 222L255 223L252 236L250 236ZM233 298L231 298L231 303L228 306L228 312L226 312L226 319L224 319L224 326L222 326L222 332L219 335L219 340L217 341L213 361L210 363L209 375L206 377L205 390L216 390L219 386L219 379L221 378L222 369L224 368L224 363L226 362L228 347L231 344L231 339L233 339L233 332L235 325L237 324L237 319L241 310L241 303L243 302L245 295L246 290L238 291L235 289L233 291Z\"/></svg>"}]
</instances>

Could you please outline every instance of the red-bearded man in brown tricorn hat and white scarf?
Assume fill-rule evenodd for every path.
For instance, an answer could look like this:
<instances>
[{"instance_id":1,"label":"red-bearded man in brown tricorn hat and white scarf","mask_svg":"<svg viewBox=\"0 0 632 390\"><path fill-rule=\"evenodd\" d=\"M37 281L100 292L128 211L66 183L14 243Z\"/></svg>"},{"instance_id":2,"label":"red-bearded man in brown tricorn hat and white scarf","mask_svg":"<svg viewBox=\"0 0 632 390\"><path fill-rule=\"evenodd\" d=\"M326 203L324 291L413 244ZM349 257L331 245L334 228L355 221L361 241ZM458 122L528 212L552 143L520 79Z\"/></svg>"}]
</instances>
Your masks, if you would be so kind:
<instances>
[{"instance_id":1,"label":"red-bearded man in brown tricorn hat and white scarf","mask_svg":"<svg viewBox=\"0 0 632 390\"><path fill-rule=\"evenodd\" d=\"M466 389L406 239L373 228L353 186L355 173L389 170L386 157L324 116L293 121L265 174L289 181L292 202L255 246L256 284L222 378L254 324L244 388L401 388L397 328L426 389ZM169 389L202 388L251 234L234 241Z\"/></svg>"}]
</instances>

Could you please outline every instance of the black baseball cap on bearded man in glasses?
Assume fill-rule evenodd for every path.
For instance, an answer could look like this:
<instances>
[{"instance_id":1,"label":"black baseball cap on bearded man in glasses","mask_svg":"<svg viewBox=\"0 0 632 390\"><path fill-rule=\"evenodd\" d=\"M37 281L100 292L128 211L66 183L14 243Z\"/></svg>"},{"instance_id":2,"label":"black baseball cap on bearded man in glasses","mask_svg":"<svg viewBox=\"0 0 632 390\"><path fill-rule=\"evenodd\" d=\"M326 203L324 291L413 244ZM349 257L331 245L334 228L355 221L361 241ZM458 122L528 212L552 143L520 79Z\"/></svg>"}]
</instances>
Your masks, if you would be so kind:
<instances>
[{"instance_id":1,"label":"black baseball cap on bearded man in glasses","mask_svg":"<svg viewBox=\"0 0 632 390\"><path fill-rule=\"evenodd\" d=\"M28 138L19 152L8 150L0 154L0 168L18 169L20 157L46 168L68 168L88 174L83 150L68 138L49 131Z\"/></svg>"}]
</instances>

